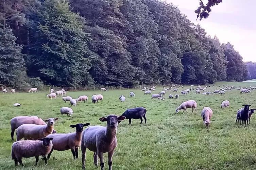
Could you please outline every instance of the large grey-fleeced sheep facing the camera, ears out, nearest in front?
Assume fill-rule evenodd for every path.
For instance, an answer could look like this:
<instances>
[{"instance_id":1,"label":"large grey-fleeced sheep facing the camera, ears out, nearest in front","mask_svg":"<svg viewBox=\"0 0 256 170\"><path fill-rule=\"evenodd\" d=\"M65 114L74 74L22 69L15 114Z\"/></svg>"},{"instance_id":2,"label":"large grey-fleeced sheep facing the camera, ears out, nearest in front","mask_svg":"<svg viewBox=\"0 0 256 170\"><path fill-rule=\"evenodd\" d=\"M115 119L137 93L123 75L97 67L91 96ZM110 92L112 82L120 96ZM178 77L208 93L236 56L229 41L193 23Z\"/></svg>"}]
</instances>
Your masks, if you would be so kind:
<instances>
[{"instance_id":1,"label":"large grey-fleeced sheep facing the camera, ears out, nearest in front","mask_svg":"<svg viewBox=\"0 0 256 170\"><path fill-rule=\"evenodd\" d=\"M104 168L103 153L108 152L108 166L112 170L112 156L117 147L117 126L118 121L123 121L124 116L110 114L107 117L102 117L101 122L107 122L107 127L104 126L89 126L82 134L81 151L82 151L82 169L85 169L86 149L93 151L93 160L98 167L98 155L100 157L101 170Z\"/></svg>"}]
</instances>

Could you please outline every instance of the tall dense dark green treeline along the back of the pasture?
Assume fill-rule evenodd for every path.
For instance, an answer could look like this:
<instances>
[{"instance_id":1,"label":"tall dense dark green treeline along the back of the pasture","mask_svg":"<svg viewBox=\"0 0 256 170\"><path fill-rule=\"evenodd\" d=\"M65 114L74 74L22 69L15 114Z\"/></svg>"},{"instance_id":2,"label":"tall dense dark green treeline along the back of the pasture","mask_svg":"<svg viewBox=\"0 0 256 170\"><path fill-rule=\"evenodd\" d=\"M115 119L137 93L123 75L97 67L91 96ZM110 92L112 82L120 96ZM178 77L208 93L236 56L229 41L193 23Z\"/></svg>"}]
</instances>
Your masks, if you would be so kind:
<instances>
[{"instance_id":1,"label":"tall dense dark green treeline along the back of the pasture","mask_svg":"<svg viewBox=\"0 0 256 170\"><path fill-rule=\"evenodd\" d=\"M3 0L0 84L205 84L242 81L230 43L158 0Z\"/></svg>"}]
</instances>

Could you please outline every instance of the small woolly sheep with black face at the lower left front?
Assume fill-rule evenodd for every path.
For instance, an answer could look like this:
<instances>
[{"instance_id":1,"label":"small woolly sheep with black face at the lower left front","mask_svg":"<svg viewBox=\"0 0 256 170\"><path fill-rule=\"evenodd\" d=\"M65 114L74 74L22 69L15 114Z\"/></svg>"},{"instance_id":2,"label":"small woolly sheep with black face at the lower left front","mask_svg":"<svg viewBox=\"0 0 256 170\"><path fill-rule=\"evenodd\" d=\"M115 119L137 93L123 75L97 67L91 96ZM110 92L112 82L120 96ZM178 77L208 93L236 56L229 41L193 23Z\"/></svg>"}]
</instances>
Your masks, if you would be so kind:
<instances>
[{"instance_id":1,"label":"small woolly sheep with black face at the lower left front","mask_svg":"<svg viewBox=\"0 0 256 170\"><path fill-rule=\"evenodd\" d=\"M18 162L21 166L22 157L29 158L35 156L37 165L39 161L39 156L43 156L45 163L47 164L46 155L52 149L52 140L53 138L45 137L39 138L35 141L17 141L12 145L11 156L12 160L14 160L15 166L18 166ZM41 142L42 141L42 142Z\"/></svg>"}]
</instances>

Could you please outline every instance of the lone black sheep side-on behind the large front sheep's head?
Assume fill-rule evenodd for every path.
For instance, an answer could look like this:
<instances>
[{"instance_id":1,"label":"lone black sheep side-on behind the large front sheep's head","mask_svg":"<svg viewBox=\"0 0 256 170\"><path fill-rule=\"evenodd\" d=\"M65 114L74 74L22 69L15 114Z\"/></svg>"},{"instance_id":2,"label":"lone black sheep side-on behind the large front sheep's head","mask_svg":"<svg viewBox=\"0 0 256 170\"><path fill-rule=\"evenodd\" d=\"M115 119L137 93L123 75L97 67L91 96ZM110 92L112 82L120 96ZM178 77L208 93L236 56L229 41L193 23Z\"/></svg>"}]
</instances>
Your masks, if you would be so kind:
<instances>
[{"instance_id":1,"label":"lone black sheep side-on behind the large front sheep's head","mask_svg":"<svg viewBox=\"0 0 256 170\"><path fill-rule=\"evenodd\" d=\"M140 119L140 124L142 123L142 117L145 120L145 123L147 123L146 119L146 112L147 110L144 107L136 107L133 109L127 109L122 114L122 116L125 116L125 119L129 119L129 125L132 125L132 119ZM121 121L118 121L120 123Z\"/></svg>"}]
</instances>

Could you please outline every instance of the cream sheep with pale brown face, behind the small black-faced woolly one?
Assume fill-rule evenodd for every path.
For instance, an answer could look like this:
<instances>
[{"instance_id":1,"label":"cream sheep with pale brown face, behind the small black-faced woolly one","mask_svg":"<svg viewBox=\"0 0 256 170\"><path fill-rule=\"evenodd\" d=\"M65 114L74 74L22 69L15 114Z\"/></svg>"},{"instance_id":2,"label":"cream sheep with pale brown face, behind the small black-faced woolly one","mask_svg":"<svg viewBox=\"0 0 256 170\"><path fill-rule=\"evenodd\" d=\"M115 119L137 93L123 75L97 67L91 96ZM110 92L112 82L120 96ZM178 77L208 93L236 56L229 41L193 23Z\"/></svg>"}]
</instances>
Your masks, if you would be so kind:
<instances>
[{"instance_id":1,"label":"cream sheep with pale brown face, behind the small black-faced woolly one","mask_svg":"<svg viewBox=\"0 0 256 170\"><path fill-rule=\"evenodd\" d=\"M52 134L55 121L59 118L49 118L44 120L47 125L36 125L36 124L23 124L17 129L17 141L20 141L23 137L24 140L37 140L44 138L48 134Z\"/></svg>"}]
</instances>

